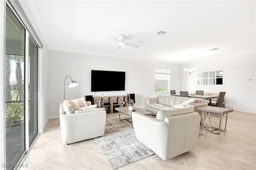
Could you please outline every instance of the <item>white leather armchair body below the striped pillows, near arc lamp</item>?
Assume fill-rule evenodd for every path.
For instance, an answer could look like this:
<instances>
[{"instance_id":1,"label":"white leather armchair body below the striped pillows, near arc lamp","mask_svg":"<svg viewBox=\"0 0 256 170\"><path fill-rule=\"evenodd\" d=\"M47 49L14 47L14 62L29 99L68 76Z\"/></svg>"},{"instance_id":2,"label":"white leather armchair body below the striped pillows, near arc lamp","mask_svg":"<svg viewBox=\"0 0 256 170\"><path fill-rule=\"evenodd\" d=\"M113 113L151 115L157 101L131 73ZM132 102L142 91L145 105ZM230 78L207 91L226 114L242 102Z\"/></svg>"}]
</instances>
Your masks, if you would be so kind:
<instances>
[{"instance_id":1,"label":"white leather armchair body below the striped pillows, near arc lamp","mask_svg":"<svg viewBox=\"0 0 256 170\"><path fill-rule=\"evenodd\" d=\"M63 144L102 136L105 127L105 110L66 114L63 104L60 104L60 131Z\"/></svg>"}]
</instances>

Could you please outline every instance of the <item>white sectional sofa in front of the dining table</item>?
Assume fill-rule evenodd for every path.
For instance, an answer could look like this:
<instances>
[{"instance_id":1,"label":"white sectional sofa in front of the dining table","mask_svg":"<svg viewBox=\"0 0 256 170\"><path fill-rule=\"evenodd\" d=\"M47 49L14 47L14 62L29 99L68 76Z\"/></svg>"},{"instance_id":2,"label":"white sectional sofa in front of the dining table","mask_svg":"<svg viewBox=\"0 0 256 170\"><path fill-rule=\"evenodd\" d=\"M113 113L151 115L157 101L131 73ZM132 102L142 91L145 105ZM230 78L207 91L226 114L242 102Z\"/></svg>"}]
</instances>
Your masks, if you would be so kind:
<instances>
[{"instance_id":1,"label":"white sectional sofa in front of the dining table","mask_svg":"<svg viewBox=\"0 0 256 170\"><path fill-rule=\"evenodd\" d=\"M193 102L195 100L197 101ZM175 109L192 106L194 112L198 112L199 115L201 116L201 122L203 121L202 111L198 111L197 108L208 106L208 103L206 103L204 99L168 95L158 95L157 97L153 98L145 98L144 104L146 111L151 112L153 115L156 115L158 111L162 109ZM206 115L204 115L204 117L206 117Z\"/></svg>"}]
</instances>

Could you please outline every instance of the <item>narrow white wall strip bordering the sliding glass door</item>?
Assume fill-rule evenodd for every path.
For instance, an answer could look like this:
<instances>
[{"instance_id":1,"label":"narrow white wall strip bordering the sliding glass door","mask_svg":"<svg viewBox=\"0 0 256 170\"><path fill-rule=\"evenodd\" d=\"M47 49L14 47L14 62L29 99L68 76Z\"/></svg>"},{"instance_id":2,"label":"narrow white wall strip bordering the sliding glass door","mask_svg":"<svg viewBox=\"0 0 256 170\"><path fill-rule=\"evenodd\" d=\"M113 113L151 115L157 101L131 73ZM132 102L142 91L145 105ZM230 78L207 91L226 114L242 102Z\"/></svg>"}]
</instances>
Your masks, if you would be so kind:
<instances>
[{"instance_id":1,"label":"narrow white wall strip bordering the sliding glass door","mask_svg":"<svg viewBox=\"0 0 256 170\"><path fill-rule=\"evenodd\" d=\"M40 41L44 45L43 49L39 50L38 55L40 58L38 59L38 91L39 91L39 101L38 101L38 133L42 133L46 123L48 121L48 48L46 43L44 42L44 38L38 28L36 20L30 10L28 2L19 1L26 16L28 17L30 23L34 27Z\"/></svg>"}]
</instances>

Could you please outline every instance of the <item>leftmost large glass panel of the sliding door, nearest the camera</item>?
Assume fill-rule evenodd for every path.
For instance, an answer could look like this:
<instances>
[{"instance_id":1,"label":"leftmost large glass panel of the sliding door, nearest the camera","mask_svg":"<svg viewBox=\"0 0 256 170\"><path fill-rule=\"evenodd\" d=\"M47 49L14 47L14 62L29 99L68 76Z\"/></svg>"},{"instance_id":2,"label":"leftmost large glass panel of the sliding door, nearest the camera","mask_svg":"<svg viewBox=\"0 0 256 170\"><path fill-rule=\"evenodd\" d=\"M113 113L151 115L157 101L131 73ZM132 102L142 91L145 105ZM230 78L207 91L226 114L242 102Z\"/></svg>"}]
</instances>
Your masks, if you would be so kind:
<instances>
[{"instance_id":1,"label":"leftmost large glass panel of the sliding door, nearest the camera","mask_svg":"<svg viewBox=\"0 0 256 170\"><path fill-rule=\"evenodd\" d=\"M6 163L10 165L25 151L24 49L25 29L6 6Z\"/></svg>"}]
</instances>

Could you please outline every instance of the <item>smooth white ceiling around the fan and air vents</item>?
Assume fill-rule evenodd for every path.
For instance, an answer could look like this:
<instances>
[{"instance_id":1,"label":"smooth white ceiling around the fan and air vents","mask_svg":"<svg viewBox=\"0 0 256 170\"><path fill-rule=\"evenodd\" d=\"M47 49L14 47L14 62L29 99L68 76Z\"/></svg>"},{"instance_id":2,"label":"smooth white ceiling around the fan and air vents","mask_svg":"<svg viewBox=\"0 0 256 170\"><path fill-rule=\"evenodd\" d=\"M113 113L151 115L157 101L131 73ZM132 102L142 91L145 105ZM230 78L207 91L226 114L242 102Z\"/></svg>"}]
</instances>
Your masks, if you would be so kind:
<instances>
[{"instance_id":1,"label":"smooth white ceiling around the fan and air vents","mask_svg":"<svg viewBox=\"0 0 256 170\"><path fill-rule=\"evenodd\" d=\"M48 49L173 64L256 49L255 1L28 1ZM154 35L166 31L162 36ZM126 35L138 48L118 44ZM209 49L219 50L210 51Z\"/></svg>"}]
</instances>

